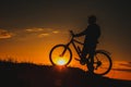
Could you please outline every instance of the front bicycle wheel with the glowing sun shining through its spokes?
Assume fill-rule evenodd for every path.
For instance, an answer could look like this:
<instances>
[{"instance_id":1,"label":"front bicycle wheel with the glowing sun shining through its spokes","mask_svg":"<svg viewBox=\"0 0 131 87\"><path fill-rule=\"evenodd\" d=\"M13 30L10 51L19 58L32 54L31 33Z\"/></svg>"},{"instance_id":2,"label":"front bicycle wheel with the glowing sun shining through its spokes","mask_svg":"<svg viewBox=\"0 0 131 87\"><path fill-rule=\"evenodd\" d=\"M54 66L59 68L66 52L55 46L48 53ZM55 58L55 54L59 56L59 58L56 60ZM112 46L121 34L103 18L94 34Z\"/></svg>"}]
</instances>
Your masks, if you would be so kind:
<instances>
[{"instance_id":1,"label":"front bicycle wheel with the glowing sun shining through its spokes","mask_svg":"<svg viewBox=\"0 0 131 87\"><path fill-rule=\"evenodd\" d=\"M52 65L68 65L72 60L72 52L66 45L55 46L49 53Z\"/></svg>"}]
</instances>

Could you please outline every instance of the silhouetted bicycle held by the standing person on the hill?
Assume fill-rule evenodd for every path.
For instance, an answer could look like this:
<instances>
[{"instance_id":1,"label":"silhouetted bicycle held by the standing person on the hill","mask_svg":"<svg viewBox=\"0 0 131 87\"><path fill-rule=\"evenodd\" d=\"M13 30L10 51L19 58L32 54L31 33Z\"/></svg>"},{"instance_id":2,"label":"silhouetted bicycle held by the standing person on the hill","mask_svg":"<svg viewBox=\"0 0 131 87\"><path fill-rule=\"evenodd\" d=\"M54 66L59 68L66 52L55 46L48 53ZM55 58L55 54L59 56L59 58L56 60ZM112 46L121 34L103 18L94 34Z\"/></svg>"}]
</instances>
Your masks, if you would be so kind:
<instances>
[{"instance_id":1,"label":"silhouetted bicycle held by the standing person on the hill","mask_svg":"<svg viewBox=\"0 0 131 87\"><path fill-rule=\"evenodd\" d=\"M49 60L52 65L57 65L56 58L62 58L62 59L66 58L67 62L64 63L64 65L68 65L71 62L72 51L69 48L69 46L71 44L80 58L80 59L75 59L75 60L81 61L81 49L79 46L76 47L75 42L80 44L80 45L83 45L83 44L78 41L76 39L74 39L71 30L70 30L70 33L72 35L72 38L68 44L56 45L55 47L51 48L50 53L49 53ZM86 58L85 62L86 62L87 69L88 69L88 61L90 61L90 58ZM94 55L93 66L94 66L94 74L105 75L105 74L109 73L109 71L111 70L111 66L112 66L110 53L106 50L96 50L95 55Z\"/></svg>"}]
</instances>

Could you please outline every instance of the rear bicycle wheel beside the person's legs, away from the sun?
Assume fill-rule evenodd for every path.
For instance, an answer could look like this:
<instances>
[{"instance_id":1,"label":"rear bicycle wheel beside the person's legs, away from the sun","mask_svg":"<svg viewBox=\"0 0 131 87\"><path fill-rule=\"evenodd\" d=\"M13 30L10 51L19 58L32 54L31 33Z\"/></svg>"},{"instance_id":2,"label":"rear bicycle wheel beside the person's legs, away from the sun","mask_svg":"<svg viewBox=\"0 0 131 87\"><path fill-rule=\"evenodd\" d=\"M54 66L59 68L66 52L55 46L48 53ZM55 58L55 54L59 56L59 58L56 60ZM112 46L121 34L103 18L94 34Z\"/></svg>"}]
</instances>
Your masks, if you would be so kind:
<instances>
[{"instance_id":1,"label":"rear bicycle wheel beside the person's legs, away from the sun","mask_svg":"<svg viewBox=\"0 0 131 87\"><path fill-rule=\"evenodd\" d=\"M112 66L110 55L103 50L97 50L94 57L94 73L97 75L107 74Z\"/></svg>"}]
</instances>

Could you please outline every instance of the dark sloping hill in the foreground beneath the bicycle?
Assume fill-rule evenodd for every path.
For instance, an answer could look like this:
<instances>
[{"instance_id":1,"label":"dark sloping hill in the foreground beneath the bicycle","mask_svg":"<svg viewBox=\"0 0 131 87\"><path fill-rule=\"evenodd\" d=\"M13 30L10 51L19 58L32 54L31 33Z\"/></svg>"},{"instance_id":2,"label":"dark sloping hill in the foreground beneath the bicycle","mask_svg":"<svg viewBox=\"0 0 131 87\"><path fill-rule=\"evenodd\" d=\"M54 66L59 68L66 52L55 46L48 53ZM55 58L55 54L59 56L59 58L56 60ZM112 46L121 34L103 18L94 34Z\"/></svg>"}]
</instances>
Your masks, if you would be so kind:
<instances>
[{"instance_id":1,"label":"dark sloping hill in the foreground beneath the bicycle","mask_svg":"<svg viewBox=\"0 0 131 87\"><path fill-rule=\"evenodd\" d=\"M91 76L75 67L2 61L0 87L131 87L131 80Z\"/></svg>"}]
</instances>

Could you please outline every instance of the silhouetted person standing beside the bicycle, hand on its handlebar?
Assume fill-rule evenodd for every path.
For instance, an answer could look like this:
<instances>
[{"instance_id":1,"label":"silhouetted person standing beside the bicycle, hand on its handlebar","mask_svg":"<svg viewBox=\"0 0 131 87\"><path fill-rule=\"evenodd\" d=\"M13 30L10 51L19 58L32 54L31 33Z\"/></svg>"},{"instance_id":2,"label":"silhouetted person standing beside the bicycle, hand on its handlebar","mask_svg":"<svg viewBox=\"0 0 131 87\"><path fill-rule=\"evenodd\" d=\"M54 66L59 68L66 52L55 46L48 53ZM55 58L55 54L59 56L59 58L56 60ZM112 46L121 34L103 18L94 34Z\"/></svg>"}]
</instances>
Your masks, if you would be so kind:
<instances>
[{"instance_id":1,"label":"silhouetted person standing beside the bicycle, hand on its handlebar","mask_svg":"<svg viewBox=\"0 0 131 87\"><path fill-rule=\"evenodd\" d=\"M94 53L96 50L96 46L98 44L98 38L100 36L100 27L96 24L96 16L91 15L88 17L88 26L80 34L74 34L74 37L80 37L85 35L84 47L82 49L82 59L80 61L81 64L85 64L85 58L88 54L90 64L88 64L88 72L93 73L94 66Z\"/></svg>"}]
</instances>

